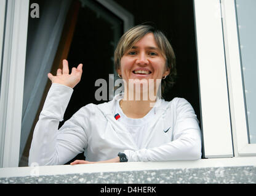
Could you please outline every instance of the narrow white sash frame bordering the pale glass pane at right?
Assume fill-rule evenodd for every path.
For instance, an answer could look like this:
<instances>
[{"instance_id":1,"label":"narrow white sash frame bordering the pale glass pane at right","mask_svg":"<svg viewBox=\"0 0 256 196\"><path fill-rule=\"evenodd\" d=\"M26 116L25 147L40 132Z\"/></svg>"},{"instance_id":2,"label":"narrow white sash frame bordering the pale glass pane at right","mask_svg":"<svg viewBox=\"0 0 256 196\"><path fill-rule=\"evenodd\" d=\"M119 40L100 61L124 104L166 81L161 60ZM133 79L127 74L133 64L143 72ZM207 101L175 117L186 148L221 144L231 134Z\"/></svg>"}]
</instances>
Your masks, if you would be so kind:
<instances>
[{"instance_id":1,"label":"narrow white sash frame bordering the pale glass pane at right","mask_svg":"<svg viewBox=\"0 0 256 196\"><path fill-rule=\"evenodd\" d=\"M241 70L241 55L234 0L222 0L226 65L230 91L231 119L235 156L255 156L256 144L249 144L246 105Z\"/></svg>"}]
</instances>

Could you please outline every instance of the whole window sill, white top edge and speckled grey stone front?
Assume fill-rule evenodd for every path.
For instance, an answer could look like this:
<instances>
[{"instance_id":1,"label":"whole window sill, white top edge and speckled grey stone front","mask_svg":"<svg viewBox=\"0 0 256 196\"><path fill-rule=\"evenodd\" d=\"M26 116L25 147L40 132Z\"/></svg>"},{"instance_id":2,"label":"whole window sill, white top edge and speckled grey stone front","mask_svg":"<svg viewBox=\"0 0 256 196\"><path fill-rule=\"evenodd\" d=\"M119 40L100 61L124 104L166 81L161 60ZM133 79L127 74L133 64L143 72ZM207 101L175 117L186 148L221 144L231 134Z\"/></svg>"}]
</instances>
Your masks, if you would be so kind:
<instances>
[{"instance_id":1,"label":"whole window sill, white top edge and speckled grey stone front","mask_svg":"<svg viewBox=\"0 0 256 196\"><path fill-rule=\"evenodd\" d=\"M0 183L256 183L254 173L256 157L233 157L0 168Z\"/></svg>"}]
</instances>

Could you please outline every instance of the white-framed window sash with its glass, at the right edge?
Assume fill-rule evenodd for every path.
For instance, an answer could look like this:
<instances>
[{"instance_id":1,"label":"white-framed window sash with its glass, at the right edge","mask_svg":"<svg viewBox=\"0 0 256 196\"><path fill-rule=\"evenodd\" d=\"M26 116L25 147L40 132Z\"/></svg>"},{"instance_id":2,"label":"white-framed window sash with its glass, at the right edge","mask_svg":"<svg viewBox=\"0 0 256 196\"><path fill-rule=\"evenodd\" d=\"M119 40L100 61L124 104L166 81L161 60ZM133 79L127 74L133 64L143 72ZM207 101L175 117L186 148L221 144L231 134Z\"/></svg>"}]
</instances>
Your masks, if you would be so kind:
<instances>
[{"instance_id":1,"label":"white-framed window sash with its glass, at the right edge","mask_svg":"<svg viewBox=\"0 0 256 196\"><path fill-rule=\"evenodd\" d=\"M253 125L254 120L252 120L255 109L254 103L251 101L252 97L255 96L255 91L250 88L254 84L254 79L250 74L255 72L255 68L252 69L251 66L255 62L255 59L252 58L255 50L250 50L251 44L255 43L254 36L250 34L250 30L255 31L255 25L250 23L250 20L255 18L254 12L250 9L254 4L254 1L222 1L235 156L256 154L253 137L255 126ZM245 22L246 17L249 17L250 20Z\"/></svg>"}]
</instances>

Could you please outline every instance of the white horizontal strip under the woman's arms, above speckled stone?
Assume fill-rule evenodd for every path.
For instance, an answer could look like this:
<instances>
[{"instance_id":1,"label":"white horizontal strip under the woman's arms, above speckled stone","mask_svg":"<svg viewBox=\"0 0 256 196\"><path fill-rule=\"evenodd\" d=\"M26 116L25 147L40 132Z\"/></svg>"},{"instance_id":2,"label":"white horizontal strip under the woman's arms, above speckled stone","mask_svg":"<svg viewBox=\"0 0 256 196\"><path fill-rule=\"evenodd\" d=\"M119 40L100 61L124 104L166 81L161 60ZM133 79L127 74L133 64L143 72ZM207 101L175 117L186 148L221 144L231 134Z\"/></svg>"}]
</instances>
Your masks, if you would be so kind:
<instances>
[{"instance_id":1,"label":"white horizontal strip under the woman's arms, above speckled stone","mask_svg":"<svg viewBox=\"0 0 256 196\"><path fill-rule=\"evenodd\" d=\"M162 162L122 162L108 164L78 164L78 165L47 165L34 167L0 168L0 178L23 177L23 176L48 176L68 175L81 173L101 173L118 171L144 171L144 170L173 170L190 168L218 168L216 177L224 167L243 167L256 165L256 157L199 159L199 160L174 160ZM209 169L210 170L210 169ZM223 173L223 177L226 177ZM223 178L220 176L220 178ZM214 178L214 176L213 176Z\"/></svg>"}]
</instances>

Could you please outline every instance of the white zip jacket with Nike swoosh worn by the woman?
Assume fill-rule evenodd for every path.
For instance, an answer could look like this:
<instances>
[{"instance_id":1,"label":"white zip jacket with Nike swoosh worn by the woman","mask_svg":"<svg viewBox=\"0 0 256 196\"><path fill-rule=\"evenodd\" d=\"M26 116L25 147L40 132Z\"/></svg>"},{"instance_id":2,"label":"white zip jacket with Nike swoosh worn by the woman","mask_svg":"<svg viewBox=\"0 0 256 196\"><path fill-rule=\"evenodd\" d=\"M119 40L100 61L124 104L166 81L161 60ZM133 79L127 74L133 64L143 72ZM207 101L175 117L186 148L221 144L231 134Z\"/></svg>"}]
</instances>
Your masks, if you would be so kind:
<instances>
[{"instance_id":1,"label":"white zip jacket with Nike swoosh worn by the woman","mask_svg":"<svg viewBox=\"0 0 256 196\"><path fill-rule=\"evenodd\" d=\"M119 152L129 162L201 158L198 119L185 99L158 99L155 118L143 138L143 148L138 149L130 132L114 118L119 95L110 102L80 108L58 130L72 92L72 88L52 84L34 129L29 165L65 164L82 152L89 161L112 159Z\"/></svg>"}]
</instances>

